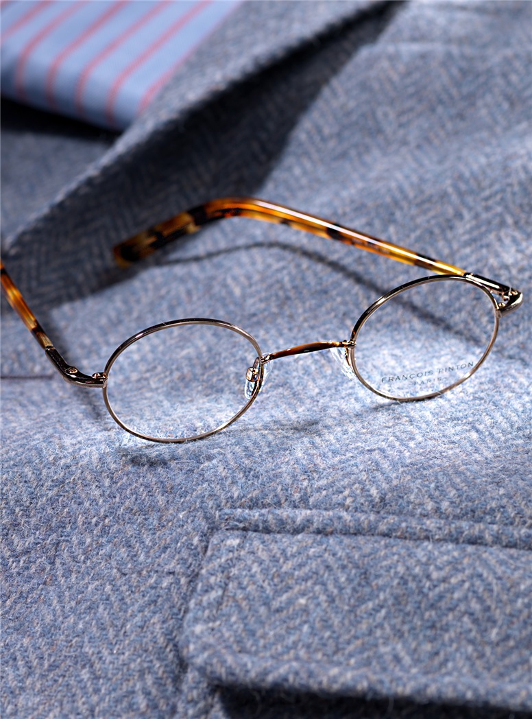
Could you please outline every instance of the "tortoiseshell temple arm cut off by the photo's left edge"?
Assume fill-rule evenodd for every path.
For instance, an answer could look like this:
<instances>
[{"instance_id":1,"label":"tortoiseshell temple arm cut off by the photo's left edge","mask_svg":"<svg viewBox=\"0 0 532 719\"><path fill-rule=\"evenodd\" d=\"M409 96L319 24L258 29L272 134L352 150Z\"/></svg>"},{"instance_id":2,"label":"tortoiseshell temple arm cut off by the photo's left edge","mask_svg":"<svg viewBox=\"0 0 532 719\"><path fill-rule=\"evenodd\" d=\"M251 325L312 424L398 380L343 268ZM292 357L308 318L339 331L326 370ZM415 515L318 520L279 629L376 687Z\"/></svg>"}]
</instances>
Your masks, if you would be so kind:
<instances>
[{"instance_id":1,"label":"tortoiseshell temple arm cut off by the photo's left edge","mask_svg":"<svg viewBox=\"0 0 532 719\"><path fill-rule=\"evenodd\" d=\"M52 362L55 369L60 372L67 382L75 385L85 385L86 387L102 387L105 383L106 377L103 372L95 372L93 375L84 375L80 372L77 367L72 367L66 362L61 356L57 349L53 346L50 337L47 336L40 322L35 317L35 314L27 306L22 293L20 292L17 285L13 282L12 278L9 277L4 262L0 262L0 279L1 286L7 301L12 306L15 312L27 329L32 333L37 342L40 344L42 349L45 350L48 359Z\"/></svg>"}]
</instances>

